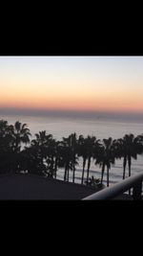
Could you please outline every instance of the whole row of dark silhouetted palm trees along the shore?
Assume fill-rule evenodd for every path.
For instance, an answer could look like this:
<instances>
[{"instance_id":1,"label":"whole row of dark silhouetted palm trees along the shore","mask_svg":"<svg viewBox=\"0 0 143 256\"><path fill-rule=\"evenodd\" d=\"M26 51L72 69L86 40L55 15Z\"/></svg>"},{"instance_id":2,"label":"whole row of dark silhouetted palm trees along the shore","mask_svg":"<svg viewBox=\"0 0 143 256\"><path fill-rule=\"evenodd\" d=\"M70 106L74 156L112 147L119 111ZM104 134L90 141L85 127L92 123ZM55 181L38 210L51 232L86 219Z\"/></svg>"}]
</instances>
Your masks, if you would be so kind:
<instances>
[{"instance_id":1,"label":"whole row of dark silhouetted palm trees along the shore","mask_svg":"<svg viewBox=\"0 0 143 256\"><path fill-rule=\"evenodd\" d=\"M31 131L27 124L16 121L9 125L0 120L0 173L12 174L28 172L56 178L57 171L64 169L63 179L75 181L76 166L82 159L81 184L90 183L92 161L101 168L101 184L107 170L107 186L109 186L110 170L115 159L123 160L123 179L128 168L131 175L132 159L143 153L143 134L134 136L126 134L123 138L97 139L95 136L77 136L76 133L56 140L46 130L39 131L31 139ZM86 175L86 176L85 176Z\"/></svg>"}]
</instances>

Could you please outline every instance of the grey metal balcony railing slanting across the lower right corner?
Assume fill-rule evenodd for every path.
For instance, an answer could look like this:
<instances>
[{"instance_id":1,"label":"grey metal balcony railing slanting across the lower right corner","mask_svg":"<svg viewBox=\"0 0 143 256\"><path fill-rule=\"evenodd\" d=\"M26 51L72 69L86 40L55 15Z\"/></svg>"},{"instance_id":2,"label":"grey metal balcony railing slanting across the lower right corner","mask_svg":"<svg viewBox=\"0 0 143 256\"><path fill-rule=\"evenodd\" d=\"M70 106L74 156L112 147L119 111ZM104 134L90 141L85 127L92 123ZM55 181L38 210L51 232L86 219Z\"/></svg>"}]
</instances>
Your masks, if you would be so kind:
<instances>
[{"instance_id":1,"label":"grey metal balcony railing slanting across the lower right corner","mask_svg":"<svg viewBox=\"0 0 143 256\"><path fill-rule=\"evenodd\" d=\"M126 179L118 182L111 187L105 188L99 192L92 194L87 198L83 198L83 200L107 200L114 199L123 193L131 190L133 188L133 199L142 199L142 181L143 181L143 173L139 175L132 175L127 177Z\"/></svg>"}]
</instances>

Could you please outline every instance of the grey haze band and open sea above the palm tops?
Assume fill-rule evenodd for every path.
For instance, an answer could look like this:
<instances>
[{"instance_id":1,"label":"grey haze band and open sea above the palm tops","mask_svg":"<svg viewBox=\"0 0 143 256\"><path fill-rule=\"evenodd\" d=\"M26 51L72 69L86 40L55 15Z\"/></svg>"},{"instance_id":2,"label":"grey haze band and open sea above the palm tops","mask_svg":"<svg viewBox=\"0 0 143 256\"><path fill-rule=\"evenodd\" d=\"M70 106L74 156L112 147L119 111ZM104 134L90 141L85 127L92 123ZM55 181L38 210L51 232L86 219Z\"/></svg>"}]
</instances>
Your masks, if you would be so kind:
<instances>
[{"instance_id":1,"label":"grey haze band and open sea above the palm tops","mask_svg":"<svg viewBox=\"0 0 143 256\"><path fill-rule=\"evenodd\" d=\"M18 109L0 109L0 119L13 124L19 120L28 124L32 135L47 130L57 139L77 134L95 135L103 139L112 136L118 138L126 133L143 133L143 115L80 111L20 111Z\"/></svg>"}]
</instances>

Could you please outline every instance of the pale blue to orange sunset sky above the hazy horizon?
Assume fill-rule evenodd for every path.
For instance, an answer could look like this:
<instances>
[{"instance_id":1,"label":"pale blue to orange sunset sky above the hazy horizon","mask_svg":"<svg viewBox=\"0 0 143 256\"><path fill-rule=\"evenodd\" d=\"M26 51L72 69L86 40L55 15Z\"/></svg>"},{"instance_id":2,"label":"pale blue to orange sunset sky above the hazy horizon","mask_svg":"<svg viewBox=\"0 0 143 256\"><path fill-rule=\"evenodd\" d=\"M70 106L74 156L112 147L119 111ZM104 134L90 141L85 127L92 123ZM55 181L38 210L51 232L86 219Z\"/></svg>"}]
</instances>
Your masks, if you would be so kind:
<instances>
[{"instance_id":1,"label":"pale blue to orange sunset sky above the hazy horizon","mask_svg":"<svg viewBox=\"0 0 143 256\"><path fill-rule=\"evenodd\" d=\"M0 108L143 113L143 57L0 57Z\"/></svg>"}]
</instances>

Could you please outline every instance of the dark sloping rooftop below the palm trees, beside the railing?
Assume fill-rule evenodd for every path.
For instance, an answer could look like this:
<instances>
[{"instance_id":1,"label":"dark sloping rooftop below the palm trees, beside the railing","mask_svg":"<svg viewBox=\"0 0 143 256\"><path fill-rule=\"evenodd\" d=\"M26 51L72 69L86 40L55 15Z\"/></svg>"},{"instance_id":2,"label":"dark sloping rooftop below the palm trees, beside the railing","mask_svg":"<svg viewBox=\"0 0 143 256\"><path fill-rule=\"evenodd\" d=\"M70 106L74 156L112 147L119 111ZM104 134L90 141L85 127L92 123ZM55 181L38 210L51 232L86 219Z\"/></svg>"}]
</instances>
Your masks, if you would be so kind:
<instances>
[{"instance_id":1,"label":"dark sloping rooftop below the palm trees, beside the railing","mask_svg":"<svg viewBox=\"0 0 143 256\"><path fill-rule=\"evenodd\" d=\"M38 175L1 175L0 199L82 199L97 190Z\"/></svg>"}]
</instances>

